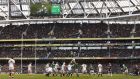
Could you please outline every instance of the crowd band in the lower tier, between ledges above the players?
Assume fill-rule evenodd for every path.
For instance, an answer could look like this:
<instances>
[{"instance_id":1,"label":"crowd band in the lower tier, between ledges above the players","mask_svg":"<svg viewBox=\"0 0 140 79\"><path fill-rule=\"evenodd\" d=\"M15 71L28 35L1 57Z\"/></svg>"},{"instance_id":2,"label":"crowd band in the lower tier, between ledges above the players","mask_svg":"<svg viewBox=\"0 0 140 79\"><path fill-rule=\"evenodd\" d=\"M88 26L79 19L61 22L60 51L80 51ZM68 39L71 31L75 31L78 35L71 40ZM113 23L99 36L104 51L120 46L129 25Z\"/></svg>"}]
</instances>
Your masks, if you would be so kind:
<instances>
[{"instance_id":1,"label":"crowd band in the lower tier, between ledges above the players","mask_svg":"<svg viewBox=\"0 0 140 79\"><path fill-rule=\"evenodd\" d=\"M38 58L54 58L54 57L140 57L139 49L90 49L90 50L72 50L72 49L52 49L48 50L13 50L0 49L0 57L38 57Z\"/></svg>"}]
</instances>

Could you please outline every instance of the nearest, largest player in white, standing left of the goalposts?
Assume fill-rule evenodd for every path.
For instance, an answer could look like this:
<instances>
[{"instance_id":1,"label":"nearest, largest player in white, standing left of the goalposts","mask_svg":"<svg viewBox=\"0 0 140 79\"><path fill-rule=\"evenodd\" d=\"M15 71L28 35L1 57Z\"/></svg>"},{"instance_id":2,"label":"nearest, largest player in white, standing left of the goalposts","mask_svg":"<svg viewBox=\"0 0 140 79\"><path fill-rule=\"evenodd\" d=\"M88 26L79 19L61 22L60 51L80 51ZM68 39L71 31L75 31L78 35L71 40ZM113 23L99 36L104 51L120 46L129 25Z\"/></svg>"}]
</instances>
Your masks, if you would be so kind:
<instances>
[{"instance_id":1,"label":"nearest, largest player in white, standing left of the goalposts","mask_svg":"<svg viewBox=\"0 0 140 79\"><path fill-rule=\"evenodd\" d=\"M8 61L9 64L9 79L14 79L15 60L11 57Z\"/></svg>"}]
</instances>

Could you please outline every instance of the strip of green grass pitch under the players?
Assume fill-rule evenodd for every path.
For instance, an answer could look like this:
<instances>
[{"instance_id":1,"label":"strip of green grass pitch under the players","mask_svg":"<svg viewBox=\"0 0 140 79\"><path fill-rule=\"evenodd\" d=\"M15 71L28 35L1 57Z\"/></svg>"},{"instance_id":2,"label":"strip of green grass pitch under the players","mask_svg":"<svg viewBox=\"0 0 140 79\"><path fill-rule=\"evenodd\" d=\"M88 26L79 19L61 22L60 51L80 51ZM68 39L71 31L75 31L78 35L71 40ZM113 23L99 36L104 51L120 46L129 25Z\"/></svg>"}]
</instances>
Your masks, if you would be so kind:
<instances>
[{"instance_id":1,"label":"strip of green grass pitch under the players","mask_svg":"<svg viewBox=\"0 0 140 79\"><path fill-rule=\"evenodd\" d=\"M7 74L0 74L0 79L9 79ZM123 74L114 74L112 77L108 75L103 75L103 77L98 77L97 75L80 75L80 77L72 76L72 77L46 77L43 74L18 74L15 75L14 79L140 79L140 76L130 76Z\"/></svg>"}]
</instances>

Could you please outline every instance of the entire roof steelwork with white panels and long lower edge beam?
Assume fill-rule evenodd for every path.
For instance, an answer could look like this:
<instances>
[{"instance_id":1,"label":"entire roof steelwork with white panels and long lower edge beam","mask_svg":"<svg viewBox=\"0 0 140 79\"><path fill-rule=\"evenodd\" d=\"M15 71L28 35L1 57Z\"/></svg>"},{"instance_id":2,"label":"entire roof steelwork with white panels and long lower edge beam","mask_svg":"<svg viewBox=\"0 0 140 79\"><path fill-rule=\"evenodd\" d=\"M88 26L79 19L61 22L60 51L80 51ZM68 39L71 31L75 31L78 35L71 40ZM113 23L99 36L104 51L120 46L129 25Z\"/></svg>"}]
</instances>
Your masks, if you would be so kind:
<instances>
[{"instance_id":1,"label":"entire roof steelwork with white panels and long lower edge beam","mask_svg":"<svg viewBox=\"0 0 140 79\"><path fill-rule=\"evenodd\" d=\"M30 19L30 4L44 0L1 0L1 6L8 6L6 10L0 7L0 23L4 22L56 22L56 21L139 21L139 0L61 0L61 14L59 17L41 17ZM46 0L45 0L46 1ZM122 6L120 3L129 3ZM135 2L134 2L135 1ZM124 3L125 4L125 3ZM28 7L24 9L23 6ZM99 7L100 6L100 7ZM125 10L127 8L127 10ZM13 17L14 16L14 17ZM16 17L16 18L15 18ZM18 19L17 19L18 17ZM15 20L16 19L16 20Z\"/></svg>"}]
</instances>

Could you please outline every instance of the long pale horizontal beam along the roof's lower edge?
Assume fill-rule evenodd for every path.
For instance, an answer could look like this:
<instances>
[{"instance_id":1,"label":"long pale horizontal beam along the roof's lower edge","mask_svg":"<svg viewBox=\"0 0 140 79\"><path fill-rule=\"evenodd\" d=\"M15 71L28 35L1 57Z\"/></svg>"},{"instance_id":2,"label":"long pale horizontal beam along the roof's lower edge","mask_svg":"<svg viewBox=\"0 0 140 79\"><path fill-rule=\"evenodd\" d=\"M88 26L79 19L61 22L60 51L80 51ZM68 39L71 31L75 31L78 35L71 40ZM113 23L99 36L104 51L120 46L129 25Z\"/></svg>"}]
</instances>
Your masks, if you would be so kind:
<instances>
[{"instance_id":1,"label":"long pale horizontal beam along the roof's lower edge","mask_svg":"<svg viewBox=\"0 0 140 79\"><path fill-rule=\"evenodd\" d=\"M101 20L104 20L104 21L112 21L113 23L118 21L119 23L126 23L126 21L129 21L129 22L132 22L132 20L130 18L132 17L136 17L138 18L140 16L140 14L131 14L131 15L121 15L121 16L111 16L111 17L108 17L108 18L49 18L49 19L21 19L21 20L0 20L0 23L1 24L5 24L5 23L41 23L41 22L46 22L46 23L52 23L54 21L60 21L60 22L63 22L63 21L83 21L83 20L86 20L86 21L101 21ZM125 20L127 19L127 20ZM136 20L136 19L135 19ZM136 23L140 23L139 19L136 20Z\"/></svg>"}]
</instances>

